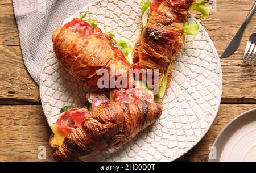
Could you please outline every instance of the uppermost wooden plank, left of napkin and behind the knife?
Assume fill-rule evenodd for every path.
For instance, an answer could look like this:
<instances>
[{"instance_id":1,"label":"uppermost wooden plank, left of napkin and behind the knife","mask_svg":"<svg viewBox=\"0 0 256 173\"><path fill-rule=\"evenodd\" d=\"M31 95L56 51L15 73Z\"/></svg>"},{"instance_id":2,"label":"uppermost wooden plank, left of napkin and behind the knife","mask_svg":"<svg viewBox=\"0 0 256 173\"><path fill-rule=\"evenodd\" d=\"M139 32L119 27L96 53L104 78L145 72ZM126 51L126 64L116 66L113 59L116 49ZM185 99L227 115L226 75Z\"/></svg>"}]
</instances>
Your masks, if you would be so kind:
<instances>
[{"instance_id":1,"label":"uppermost wooden plank, left of napkin and behind the knife","mask_svg":"<svg viewBox=\"0 0 256 173\"><path fill-rule=\"evenodd\" d=\"M202 19L201 22L213 41L231 40L246 18L252 4L253 1L250 0L243 1L243 3L236 0L229 2L228 5L225 1L217 1L217 11L212 12L208 19ZM194 11L191 13L196 14ZM1 2L0 14L0 45L19 45L18 29L11 0ZM244 35L246 40L250 33L255 32L255 19L256 16L254 15L246 28ZM228 44L228 41L226 44Z\"/></svg>"}]
</instances>

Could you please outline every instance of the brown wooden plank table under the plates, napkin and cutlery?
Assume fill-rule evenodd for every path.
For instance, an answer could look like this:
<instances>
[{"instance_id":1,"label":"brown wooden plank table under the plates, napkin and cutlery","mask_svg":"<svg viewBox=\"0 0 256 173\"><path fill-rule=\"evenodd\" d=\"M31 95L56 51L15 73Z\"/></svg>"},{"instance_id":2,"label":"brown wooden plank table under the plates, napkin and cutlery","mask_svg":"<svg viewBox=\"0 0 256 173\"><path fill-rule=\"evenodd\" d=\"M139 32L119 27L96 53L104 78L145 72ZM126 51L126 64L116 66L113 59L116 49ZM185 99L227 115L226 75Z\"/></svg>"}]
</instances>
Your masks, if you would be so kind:
<instances>
[{"instance_id":1,"label":"brown wooden plank table under the plates, napkin and cutlery","mask_svg":"<svg viewBox=\"0 0 256 173\"><path fill-rule=\"evenodd\" d=\"M217 0L217 12L201 20L219 55L246 18L254 0ZM240 113L256 107L256 66L242 64L245 45L255 32L251 18L237 52L221 60L223 94L217 118L206 136L179 161L208 161L209 146L220 130ZM40 103L39 87L22 60L11 0L0 0L0 161L39 161L38 147L48 146L51 130Z\"/></svg>"}]
</instances>

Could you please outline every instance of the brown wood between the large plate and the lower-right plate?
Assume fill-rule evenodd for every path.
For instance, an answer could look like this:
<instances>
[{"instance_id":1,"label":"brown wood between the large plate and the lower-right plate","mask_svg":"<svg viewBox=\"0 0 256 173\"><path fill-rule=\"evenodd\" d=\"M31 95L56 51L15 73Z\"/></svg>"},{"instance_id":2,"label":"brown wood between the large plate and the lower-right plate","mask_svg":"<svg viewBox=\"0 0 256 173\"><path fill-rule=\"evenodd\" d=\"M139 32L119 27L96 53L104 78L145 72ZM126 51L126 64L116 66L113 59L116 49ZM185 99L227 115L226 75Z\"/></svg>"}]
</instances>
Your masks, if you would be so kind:
<instances>
[{"instance_id":1,"label":"brown wood between the large plate and the lower-right plate","mask_svg":"<svg viewBox=\"0 0 256 173\"><path fill-rule=\"evenodd\" d=\"M229 121L234 119L234 117L253 108L255 108L255 104L221 104L218 115L208 133L204 136L203 140L193 147L191 151L178 159L178 161L208 161L209 147L213 145L218 133L226 124L229 123Z\"/></svg>"}]
</instances>

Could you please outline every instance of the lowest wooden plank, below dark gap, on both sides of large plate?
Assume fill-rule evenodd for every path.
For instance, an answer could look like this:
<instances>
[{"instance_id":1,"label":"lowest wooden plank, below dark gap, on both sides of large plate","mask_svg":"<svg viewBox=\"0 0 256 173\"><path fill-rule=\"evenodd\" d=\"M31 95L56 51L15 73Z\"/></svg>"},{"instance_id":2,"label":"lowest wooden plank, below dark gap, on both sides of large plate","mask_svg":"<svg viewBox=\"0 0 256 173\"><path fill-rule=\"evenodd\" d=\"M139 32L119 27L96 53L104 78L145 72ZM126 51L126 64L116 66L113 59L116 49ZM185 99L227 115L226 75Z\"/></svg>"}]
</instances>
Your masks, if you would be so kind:
<instances>
[{"instance_id":1,"label":"lowest wooden plank, below dark gap, on both sides of large plate","mask_svg":"<svg viewBox=\"0 0 256 173\"><path fill-rule=\"evenodd\" d=\"M255 105L222 104L203 140L178 161L208 161L208 149L220 130L234 117L252 108ZM0 161L39 161L39 146L46 147L46 161L52 161L54 150L48 146L51 130L41 106L0 106L0 112Z\"/></svg>"}]
</instances>

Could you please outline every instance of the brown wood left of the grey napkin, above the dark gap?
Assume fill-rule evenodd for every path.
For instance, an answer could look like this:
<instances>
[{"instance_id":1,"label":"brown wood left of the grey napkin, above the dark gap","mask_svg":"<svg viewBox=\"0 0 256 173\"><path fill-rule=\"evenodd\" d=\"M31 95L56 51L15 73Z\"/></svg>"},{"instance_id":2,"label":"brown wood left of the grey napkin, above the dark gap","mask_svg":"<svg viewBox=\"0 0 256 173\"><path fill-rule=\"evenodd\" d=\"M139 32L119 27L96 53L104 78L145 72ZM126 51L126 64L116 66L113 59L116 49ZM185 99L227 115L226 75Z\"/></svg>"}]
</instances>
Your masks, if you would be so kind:
<instances>
[{"instance_id":1,"label":"brown wood left of the grey napkin, above the dark gap","mask_svg":"<svg viewBox=\"0 0 256 173\"><path fill-rule=\"evenodd\" d=\"M39 104L39 88L24 66L11 0L0 1L0 104Z\"/></svg>"}]
</instances>

